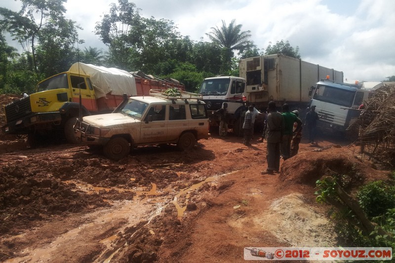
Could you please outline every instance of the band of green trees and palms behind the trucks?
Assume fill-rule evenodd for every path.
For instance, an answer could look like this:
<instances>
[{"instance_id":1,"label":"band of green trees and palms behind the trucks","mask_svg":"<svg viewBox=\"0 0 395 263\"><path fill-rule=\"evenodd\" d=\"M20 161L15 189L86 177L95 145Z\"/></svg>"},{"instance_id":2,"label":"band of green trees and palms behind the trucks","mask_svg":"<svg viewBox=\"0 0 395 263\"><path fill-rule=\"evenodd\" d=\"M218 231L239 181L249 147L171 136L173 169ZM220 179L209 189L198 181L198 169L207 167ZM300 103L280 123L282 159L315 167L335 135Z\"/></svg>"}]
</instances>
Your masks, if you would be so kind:
<instances>
[{"instance_id":1,"label":"band of green trees and palms behind the trucks","mask_svg":"<svg viewBox=\"0 0 395 263\"><path fill-rule=\"evenodd\" d=\"M238 75L238 58L266 54L260 53L250 40L250 31L242 31L235 19L212 27L207 34L210 42L195 41L182 36L173 21L142 17L128 0L112 3L96 22L94 33L108 49L80 49L84 40L77 30L82 28L66 19L67 0L20 1L19 11L0 7L0 93L33 93L40 80L67 71L77 61L173 77L194 91L204 77ZM8 45L3 34L18 41L21 54ZM266 51L277 50L281 43L269 45ZM294 50L288 42L283 45L286 48L279 51L298 55L298 48Z\"/></svg>"}]
</instances>

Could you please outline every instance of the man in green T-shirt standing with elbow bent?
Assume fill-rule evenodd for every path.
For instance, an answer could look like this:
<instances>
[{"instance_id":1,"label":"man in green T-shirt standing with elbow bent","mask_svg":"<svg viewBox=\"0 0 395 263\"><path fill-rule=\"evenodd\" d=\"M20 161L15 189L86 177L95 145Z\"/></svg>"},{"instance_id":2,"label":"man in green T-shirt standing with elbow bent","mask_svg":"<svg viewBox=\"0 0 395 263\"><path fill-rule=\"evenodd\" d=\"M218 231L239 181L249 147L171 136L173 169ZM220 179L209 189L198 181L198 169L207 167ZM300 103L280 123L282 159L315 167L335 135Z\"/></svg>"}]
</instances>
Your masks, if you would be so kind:
<instances>
[{"instance_id":1,"label":"man in green T-shirt standing with elbow bent","mask_svg":"<svg viewBox=\"0 0 395 263\"><path fill-rule=\"evenodd\" d=\"M282 116L284 117L284 134L281 142L281 154L284 160L291 157L291 141L293 136L293 124L296 122L295 132L299 132L302 127L302 121L294 114L289 112L288 104L282 105Z\"/></svg>"}]
</instances>

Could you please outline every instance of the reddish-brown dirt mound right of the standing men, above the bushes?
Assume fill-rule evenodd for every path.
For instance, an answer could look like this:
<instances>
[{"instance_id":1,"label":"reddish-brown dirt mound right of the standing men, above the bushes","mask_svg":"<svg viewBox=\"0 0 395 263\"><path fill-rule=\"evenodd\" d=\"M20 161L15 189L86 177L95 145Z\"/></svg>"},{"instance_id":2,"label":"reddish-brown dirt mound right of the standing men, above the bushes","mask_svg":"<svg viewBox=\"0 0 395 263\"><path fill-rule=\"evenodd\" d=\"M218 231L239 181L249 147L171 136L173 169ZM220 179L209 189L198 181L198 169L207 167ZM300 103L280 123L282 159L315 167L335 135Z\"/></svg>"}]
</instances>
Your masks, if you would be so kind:
<instances>
[{"instance_id":1,"label":"reddish-brown dirt mound right of the standing men, above the bushes","mask_svg":"<svg viewBox=\"0 0 395 263\"><path fill-rule=\"evenodd\" d=\"M323 176L341 179L343 187L355 188L375 180L388 180L388 172L379 172L366 160L347 154L344 148L330 147L311 152L301 152L287 159L281 166L279 180L283 184L316 186Z\"/></svg>"}]
</instances>

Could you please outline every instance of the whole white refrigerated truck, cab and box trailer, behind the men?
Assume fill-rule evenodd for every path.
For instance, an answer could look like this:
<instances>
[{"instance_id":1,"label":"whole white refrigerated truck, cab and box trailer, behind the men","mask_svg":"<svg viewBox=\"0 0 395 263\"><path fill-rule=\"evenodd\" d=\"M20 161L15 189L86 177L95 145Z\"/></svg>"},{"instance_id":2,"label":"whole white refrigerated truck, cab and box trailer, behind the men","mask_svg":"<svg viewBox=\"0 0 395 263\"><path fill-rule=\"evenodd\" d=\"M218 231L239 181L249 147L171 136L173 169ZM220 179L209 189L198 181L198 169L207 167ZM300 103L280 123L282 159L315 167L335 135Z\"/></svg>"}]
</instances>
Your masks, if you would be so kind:
<instances>
[{"instance_id":1,"label":"whole white refrigerated truck, cab and box trailer, behind the men","mask_svg":"<svg viewBox=\"0 0 395 263\"><path fill-rule=\"evenodd\" d=\"M238 133L240 113L245 103L254 103L265 111L269 101L277 106L287 103L291 110L305 109L310 104L309 91L327 75L334 81L343 81L343 72L312 64L281 54L251 57L239 62L239 77L217 76L203 80L199 93L207 110L220 109L228 103L229 128ZM218 126L219 119L209 114L210 127ZM258 117L255 125L261 125Z\"/></svg>"}]
</instances>

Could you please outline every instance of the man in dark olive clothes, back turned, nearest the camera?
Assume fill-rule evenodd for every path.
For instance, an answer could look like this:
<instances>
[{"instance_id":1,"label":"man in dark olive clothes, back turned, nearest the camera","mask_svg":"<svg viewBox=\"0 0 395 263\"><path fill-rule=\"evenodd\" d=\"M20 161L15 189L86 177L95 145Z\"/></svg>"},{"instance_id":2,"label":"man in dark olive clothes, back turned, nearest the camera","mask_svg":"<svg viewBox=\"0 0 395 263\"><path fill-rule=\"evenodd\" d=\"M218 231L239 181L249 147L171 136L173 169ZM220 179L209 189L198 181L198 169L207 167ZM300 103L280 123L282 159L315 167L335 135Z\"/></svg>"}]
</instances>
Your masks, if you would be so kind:
<instances>
[{"instance_id":1,"label":"man in dark olive clothes, back turned, nearest the camera","mask_svg":"<svg viewBox=\"0 0 395 263\"><path fill-rule=\"evenodd\" d=\"M280 143L284 129L284 117L276 110L276 103L269 102L268 126L267 126L267 146L266 159L268 168L261 174L274 174L280 169Z\"/></svg>"}]
</instances>

